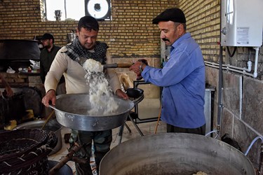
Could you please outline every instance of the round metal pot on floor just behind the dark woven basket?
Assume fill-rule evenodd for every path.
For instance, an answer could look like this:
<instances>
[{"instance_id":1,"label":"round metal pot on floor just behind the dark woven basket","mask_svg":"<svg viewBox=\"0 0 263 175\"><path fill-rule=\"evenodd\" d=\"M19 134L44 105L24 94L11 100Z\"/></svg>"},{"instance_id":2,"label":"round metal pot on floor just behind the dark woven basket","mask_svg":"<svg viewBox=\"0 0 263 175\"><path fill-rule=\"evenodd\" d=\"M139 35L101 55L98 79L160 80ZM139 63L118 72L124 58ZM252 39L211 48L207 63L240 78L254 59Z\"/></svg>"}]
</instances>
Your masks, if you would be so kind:
<instances>
[{"instance_id":1,"label":"round metal pot on floor just behind the dark woven basket","mask_svg":"<svg viewBox=\"0 0 263 175\"><path fill-rule=\"evenodd\" d=\"M41 129L41 127L44 125L44 120L35 120L30 121L27 123L22 123L15 127L14 130L21 130L21 129ZM61 137L61 129L62 126L57 122L57 120L49 120L48 123L46 123L46 126L43 128L43 130L48 130L55 132L55 136L58 139L58 143L53 148L53 150L49 153L49 155L53 155L54 153L57 153L62 148L62 137Z\"/></svg>"}]
</instances>

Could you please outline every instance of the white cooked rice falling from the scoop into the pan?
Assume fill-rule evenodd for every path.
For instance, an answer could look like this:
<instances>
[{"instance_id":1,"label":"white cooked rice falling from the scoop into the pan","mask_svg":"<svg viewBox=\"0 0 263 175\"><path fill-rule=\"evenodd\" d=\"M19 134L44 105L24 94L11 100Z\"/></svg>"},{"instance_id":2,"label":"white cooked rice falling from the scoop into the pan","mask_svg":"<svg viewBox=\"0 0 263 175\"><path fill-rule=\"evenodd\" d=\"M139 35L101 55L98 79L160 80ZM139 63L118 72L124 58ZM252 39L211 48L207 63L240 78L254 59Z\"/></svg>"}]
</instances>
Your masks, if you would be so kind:
<instances>
[{"instance_id":1,"label":"white cooked rice falling from the scoop into the pan","mask_svg":"<svg viewBox=\"0 0 263 175\"><path fill-rule=\"evenodd\" d=\"M97 113L111 115L118 109L118 104L114 100L112 88L109 81L103 73L103 66L95 59L87 59L83 64L86 70L86 83L89 85L89 97L91 109L90 115L95 116Z\"/></svg>"}]
</instances>

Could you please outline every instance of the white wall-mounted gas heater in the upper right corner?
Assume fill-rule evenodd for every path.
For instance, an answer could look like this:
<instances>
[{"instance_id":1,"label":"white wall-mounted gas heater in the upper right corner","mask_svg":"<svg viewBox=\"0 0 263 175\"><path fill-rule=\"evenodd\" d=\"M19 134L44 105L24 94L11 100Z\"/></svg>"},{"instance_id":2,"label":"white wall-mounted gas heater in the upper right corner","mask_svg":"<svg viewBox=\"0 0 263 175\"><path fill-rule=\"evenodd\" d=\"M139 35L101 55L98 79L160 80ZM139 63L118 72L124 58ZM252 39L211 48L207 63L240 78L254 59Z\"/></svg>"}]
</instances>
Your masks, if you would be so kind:
<instances>
[{"instance_id":1,"label":"white wall-mounted gas heater in the upper right corner","mask_svg":"<svg viewBox=\"0 0 263 175\"><path fill-rule=\"evenodd\" d=\"M221 45L262 45L263 0L222 0L221 3Z\"/></svg>"}]
</instances>

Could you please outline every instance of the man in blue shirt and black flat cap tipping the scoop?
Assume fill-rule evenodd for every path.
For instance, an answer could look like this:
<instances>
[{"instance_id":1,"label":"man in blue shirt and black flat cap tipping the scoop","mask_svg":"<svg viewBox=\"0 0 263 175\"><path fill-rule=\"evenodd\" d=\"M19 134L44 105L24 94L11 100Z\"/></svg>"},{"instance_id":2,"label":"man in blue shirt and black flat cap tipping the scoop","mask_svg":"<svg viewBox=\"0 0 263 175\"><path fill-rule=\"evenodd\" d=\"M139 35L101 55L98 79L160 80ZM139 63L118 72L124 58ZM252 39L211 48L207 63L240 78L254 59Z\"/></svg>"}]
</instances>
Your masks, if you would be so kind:
<instances>
[{"instance_id":1,"label":"man in blue shirt and black flat cap tipping the scoop","mask_svg":"<svg viewBox=\"0 0 263 175\"><path fill-rule=\"evenodd\" d=\"M154 20L161 39L171 46L163 69L135 62L130 70L146 82L163 87L161 120L167 132L205 134L205 65L196 41L186 32L186 19L179 8L169 8Z\"/></svg>"}]
</instances>

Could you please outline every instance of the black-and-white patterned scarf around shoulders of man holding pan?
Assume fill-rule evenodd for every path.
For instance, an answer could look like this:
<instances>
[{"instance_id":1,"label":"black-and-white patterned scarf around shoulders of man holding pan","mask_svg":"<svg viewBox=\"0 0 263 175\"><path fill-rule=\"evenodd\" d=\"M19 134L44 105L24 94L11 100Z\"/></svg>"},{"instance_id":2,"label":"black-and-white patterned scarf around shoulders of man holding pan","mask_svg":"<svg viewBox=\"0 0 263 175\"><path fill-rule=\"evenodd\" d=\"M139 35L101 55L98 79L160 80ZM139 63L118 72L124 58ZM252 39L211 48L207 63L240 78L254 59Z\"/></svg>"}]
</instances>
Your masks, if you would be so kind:
<instances>
[{"instance_id":1,"label":"black-and-white patterned scarf around shoulders of man holding pan","mask_svg":"<svg viewBox=\"0 0 263 175\"><path fill-rule=\"evenodd\" d=\"M76 37L71 44L66 45L66 48L67 51L65 51L65 53L74 61L79 62L81 66L83 66L83 63L90 58L95 59L101 64L106 64L106 52L107 48L109 48L107 43L96 41L95 52L89 52L82 47L81 43L79 43L79 38Z\"/></svg>"}]
</instances>

